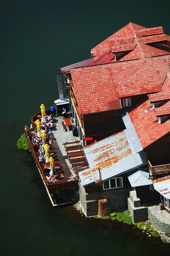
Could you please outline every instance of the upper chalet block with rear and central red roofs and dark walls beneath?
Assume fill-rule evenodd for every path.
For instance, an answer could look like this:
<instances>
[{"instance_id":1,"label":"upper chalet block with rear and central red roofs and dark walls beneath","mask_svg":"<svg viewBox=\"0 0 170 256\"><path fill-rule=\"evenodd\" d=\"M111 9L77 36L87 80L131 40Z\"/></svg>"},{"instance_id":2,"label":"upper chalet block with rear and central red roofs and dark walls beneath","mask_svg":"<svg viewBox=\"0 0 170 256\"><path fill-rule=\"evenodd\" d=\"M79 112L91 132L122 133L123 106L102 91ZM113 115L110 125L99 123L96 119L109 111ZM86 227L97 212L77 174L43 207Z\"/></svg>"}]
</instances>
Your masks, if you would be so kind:
<instances>
[{"instance_id":1,"label":"upper chalet block with rear and central red roofs and dark walls beneath","mask_svg":"<svg viewBox=\"0 0 170 256\"><path fill-rule=\"evenodd\" d=\"M121 114L158 93L170 71L170 36L129 23L91 49L88 60L61 68L84 145L122 130Z\"/></svg>"}]
</instances>

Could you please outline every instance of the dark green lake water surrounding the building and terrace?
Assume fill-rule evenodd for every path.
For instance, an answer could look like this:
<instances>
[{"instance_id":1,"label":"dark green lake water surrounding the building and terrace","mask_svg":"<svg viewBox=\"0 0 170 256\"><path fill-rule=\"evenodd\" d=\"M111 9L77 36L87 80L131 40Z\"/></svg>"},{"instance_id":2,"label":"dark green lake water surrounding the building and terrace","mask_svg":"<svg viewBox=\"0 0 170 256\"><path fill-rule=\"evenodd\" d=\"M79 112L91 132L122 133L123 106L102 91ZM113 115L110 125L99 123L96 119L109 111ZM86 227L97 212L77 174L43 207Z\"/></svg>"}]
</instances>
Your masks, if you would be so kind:
<instances>
[{"instance_id":1,"label":"dark green lake water surrounding the building and terrace","mask_svg":"<svg viewBox=\"0 0 170 256\"><path fill-rule=\"evenodd\" d=\"M126 226L52 209L31 154L16 143L40 105L58 98L59 67L90 58L130 21L170 35L169 10L166 0L0 0L0 255L168 255L169 245Z\"/></svg>"}]
</instances>

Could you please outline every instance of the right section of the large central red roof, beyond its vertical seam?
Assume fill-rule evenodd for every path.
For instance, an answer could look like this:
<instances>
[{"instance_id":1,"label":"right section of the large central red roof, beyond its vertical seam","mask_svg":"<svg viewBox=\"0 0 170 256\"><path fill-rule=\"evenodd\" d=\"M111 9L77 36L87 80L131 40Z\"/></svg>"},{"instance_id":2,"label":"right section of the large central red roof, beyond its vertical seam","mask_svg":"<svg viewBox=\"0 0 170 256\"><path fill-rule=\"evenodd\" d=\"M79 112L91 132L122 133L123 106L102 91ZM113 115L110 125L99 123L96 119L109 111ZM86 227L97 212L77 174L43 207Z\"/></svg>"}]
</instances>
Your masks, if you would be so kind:
<instances>
[{"instance_id":1,"label":"right section of the large central red roof, beyond its vertical seam","mask_svg":"<svg viewBox=\"0 0 170 256\"><path fill-rule=\"evenodd\" d=\"M170 71L167 59L170 61L170 56L110 64L112 83L118 96L159 92Z\"/></svg>"}]
</instances>

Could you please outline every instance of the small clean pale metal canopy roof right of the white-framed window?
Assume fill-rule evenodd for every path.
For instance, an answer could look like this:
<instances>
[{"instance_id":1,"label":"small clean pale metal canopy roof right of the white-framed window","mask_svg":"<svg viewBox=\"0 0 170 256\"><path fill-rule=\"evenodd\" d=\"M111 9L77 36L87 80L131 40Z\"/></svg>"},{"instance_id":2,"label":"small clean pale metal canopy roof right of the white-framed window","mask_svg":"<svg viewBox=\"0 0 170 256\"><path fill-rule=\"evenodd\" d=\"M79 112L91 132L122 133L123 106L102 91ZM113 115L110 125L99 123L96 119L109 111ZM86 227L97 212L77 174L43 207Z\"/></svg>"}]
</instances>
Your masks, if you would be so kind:
<instances>
[{"instance_id":1,"label":"small clean pale metal canopy roof right of the white-framed window","mask_svg":"<svg viewBox=\"0 0 170 256\"><path fill-rule=\"evenodd\" d=\"M152 185L149 178L149 172L146 169L138 169L136 172L128 176L128 180L132 187Z\"/></svg>"}]
</instances>

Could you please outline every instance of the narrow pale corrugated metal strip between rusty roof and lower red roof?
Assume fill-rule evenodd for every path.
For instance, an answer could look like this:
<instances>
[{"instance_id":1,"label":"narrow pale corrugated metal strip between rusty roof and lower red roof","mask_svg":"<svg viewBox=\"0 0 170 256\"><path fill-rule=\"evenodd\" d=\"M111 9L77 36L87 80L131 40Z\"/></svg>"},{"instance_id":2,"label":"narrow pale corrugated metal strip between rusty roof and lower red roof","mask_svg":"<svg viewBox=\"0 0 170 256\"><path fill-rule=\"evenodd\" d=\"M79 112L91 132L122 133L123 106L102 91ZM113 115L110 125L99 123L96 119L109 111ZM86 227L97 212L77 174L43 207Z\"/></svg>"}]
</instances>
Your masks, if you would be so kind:
<instances>
[{"instance_id":1,"label":"narrow pale corrugated metal strip between rusty roof and lower red roof","mask_svg":"<svg viewBox=\"0 0 170 256\"><path fill-rule=\"evenodd\" d=\"M136 153L142 151L143 150L142 145L136 134L135 128L133 127L133 124L130 120L128 113L123 113L122 119L126 127L125 134L128 134L128 136L130 137L130 141L133 143Z\"/></svg>"}]
</instances>

